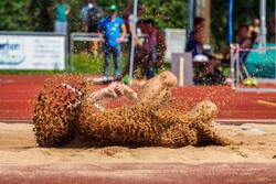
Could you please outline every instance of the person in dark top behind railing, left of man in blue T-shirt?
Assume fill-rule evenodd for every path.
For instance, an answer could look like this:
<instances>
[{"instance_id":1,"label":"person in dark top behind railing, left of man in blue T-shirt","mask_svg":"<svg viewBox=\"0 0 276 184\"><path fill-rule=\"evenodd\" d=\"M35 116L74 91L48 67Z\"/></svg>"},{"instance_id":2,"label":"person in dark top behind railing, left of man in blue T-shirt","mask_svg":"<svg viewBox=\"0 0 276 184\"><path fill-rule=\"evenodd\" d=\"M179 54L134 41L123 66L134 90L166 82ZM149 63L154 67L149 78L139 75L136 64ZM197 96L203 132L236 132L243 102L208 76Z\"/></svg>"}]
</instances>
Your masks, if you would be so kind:
<instances>
[{"instance_id":1,"label":"person in dark top behind railing, left of man in blue T-shirt","mask_svg":"<svg viewBox=\"0 0 276 184\"><path fill-rule=\"evenodd\" d=\"M104 11L100 7L97 6L96 0L92 0L92 8L87 11L86 24L85 24L85 32L88 33L97 33L97 28L100 19L104 17ZM97 55L98 54L98 42L93 42L93 47L91 42L88 42L88 51Z\"/></svg>"}]
</instances>

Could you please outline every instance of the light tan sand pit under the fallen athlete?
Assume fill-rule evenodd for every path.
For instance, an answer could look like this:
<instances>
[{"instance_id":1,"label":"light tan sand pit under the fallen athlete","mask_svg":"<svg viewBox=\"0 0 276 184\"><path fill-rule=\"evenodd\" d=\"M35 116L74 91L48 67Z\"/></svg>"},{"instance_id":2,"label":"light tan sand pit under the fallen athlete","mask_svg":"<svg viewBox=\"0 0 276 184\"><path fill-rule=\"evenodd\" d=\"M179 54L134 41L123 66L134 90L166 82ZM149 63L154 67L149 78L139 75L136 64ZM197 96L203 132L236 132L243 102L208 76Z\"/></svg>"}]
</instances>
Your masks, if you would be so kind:
<instances>
[{"instance_id":1,"label":"light tan sand pit under the fallen athlete","mask_svg":"<svg viewBox=\"0 0 276 184\"><path fill-rule=\"evenodd\" d=\"M0 123L0 163L2 165L93 164L93 163L276 163L276 125L244 125L215 128L237 145L98 148L85 137L76 137L64 148L39 148L30 123ZM248 128L255 128L250 130ZM262 130L262 131L256 131ZM263 134L264 132L265 134Z\"/></svg>"}]
</instances>

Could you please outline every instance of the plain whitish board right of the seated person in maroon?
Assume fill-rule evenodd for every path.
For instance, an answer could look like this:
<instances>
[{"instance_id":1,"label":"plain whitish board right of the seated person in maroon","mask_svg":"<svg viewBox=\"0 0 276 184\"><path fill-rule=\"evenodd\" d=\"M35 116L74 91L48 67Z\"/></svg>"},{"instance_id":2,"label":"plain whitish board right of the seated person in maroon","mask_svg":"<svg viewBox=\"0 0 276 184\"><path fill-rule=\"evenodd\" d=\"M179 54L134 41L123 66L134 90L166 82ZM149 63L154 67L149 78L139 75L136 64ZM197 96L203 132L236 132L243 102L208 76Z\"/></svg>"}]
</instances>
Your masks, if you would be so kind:
<instances>
[{"instance_id":1,"label":"plain whitish board right of the seated person in maroon","mask_svg":"<svg viewBox=\"0 0 276 184\"><path fill-rule=\"evenodd\" d=\"M185 44L185 30L183 29L164 29L167 50L164 57L170 62L172 53L183 53Z\"/></svg>"}]
</instances>

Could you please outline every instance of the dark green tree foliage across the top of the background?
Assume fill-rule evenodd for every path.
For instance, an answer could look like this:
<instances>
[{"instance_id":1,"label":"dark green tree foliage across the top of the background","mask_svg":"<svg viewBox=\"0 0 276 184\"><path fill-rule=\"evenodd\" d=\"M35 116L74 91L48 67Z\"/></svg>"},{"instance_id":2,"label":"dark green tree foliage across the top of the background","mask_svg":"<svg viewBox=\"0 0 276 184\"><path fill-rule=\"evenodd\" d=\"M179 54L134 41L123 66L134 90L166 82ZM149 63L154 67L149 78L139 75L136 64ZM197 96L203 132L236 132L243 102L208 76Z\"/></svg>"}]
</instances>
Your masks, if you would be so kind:
<instances>
[{"instance_id":1,"label":"dark green tree foliage across the top of the background","mask_svg":"<svg viewBox=\"0 0 276 184\"><path fill-rule=\"evenodd\" d=\"M118 14L121 15L132 0L98 0L105 12L110 4L118 7ZM227 44L227 1L211 1L211 44L215 51ZM267 0L267 19L275 11L274 0ZM53 6L55 0L1 0L0 1L0 30L1 31L42 31L53 30L53 20L47 13L47 8ZM72 8L70 14L70 32L78 32L79 10L82 0L66 0ZM146 13L142 18L156 20L159 29L180 28L188 25L188 0L139 0L146 6ZM233 20L234 35L237 36L240 23L251 24L252 20L259 15L259 1L257 0L234 0ZM269 30L268 30L269 36Z\"/></svg>"}]
</instances>

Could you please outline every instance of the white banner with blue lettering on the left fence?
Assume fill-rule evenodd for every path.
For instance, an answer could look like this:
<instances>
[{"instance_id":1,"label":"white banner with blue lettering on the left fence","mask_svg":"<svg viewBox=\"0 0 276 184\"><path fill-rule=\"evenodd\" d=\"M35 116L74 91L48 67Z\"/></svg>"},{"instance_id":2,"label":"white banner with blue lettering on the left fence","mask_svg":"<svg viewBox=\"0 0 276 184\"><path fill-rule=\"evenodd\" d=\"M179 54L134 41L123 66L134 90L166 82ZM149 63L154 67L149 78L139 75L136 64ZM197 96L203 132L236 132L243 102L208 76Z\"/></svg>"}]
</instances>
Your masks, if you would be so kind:
<instances>
[{"instance_id":1,"label":"white banner with blue lettering on the left fence","mask_svg":"<svg viewBox=\"0 0 276 184\"><path fill-rule=\"evenodd\" d=\"M0 34L0 69L65 69L65 36Z\"/></svg>"}]
</instances>

